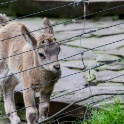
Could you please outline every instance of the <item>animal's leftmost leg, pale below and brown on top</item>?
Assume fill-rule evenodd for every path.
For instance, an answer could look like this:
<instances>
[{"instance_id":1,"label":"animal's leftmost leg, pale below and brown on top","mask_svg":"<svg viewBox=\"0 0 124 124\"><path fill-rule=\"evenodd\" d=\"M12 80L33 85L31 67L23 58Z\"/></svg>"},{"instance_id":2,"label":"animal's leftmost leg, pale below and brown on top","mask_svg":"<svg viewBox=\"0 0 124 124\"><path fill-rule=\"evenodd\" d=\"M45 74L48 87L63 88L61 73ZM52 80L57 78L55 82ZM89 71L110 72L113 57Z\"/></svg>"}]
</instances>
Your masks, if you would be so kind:
<instances>
[{"instance_id":1,"label":"animal's leftmost leg, pale below and brown on top","mask_svg":"<svg viewBox=\"0 0 124 124\"><path fill-rule=\"evenodd\" d=\"M17 112L14 112L16 111L16 107L15 107L14 94L12 94L12 92L16 85L17 85L16 78L8 77L3 86L5 111L6 111L6 114L8 114L11 124L21 124L21 121L17 115Z\"/></svg>"}]
</instances>

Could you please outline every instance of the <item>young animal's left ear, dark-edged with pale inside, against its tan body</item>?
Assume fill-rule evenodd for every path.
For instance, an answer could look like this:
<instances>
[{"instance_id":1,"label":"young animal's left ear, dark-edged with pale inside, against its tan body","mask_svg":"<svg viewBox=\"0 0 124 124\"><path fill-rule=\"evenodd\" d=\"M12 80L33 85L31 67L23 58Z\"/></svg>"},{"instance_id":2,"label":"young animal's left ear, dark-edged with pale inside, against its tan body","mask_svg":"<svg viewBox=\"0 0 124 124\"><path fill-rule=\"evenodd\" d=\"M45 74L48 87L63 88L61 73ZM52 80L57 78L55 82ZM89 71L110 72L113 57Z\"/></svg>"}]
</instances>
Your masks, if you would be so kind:
<instances>
[{"instance_id":1,"label":"young animal's left ear, dark-edged with pale inside, against its tan body","mask_svg":"<svg viewBox=\"0 0 124 124\"><path fill-rule=\"evenodd\" d=\"M35 39L35 37L33 36L33 34L31 33L31 31L25 26L22 26L22 34L26 40L26 42L32 47L32 48L36 48L37 46L37 40Z\"/></svg>"}]
</instances>

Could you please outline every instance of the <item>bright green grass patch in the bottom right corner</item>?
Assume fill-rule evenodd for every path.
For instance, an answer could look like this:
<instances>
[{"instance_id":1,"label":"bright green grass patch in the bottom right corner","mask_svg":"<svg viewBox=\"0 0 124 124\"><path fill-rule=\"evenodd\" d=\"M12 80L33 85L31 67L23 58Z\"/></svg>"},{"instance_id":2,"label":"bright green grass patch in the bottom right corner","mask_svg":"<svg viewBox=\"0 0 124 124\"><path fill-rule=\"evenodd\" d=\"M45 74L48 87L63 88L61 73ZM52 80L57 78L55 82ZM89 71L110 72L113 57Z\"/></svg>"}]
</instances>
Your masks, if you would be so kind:
<instances>
[{"instance_id":1,"label":"bright green grass patch in the bottom right corner","mask_svg":"<svg viewBox=\"0 0 124 124\"><path fill-rule=\"evenodd\" d=\"M99 110L91 111L88 122L78 120L72 124L124 124L124 106L122 108L120 101L113 105L105 104Z\"/></svg>"}]
</instances>

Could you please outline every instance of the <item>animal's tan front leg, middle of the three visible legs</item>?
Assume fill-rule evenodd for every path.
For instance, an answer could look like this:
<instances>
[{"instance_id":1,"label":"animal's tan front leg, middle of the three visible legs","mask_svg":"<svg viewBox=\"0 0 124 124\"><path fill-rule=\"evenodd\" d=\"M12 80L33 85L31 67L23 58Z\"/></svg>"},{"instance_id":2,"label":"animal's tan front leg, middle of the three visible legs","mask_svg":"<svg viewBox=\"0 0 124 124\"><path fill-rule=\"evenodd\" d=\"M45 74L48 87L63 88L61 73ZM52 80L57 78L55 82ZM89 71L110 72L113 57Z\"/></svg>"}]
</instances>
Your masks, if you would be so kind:
<instances>
[{"instance_id":1,"label":"animal's tan front leg, middle of the three visible legs","mask_svg":"<svg viewBox=\"0 0 124 124\"><path fill-rule=\"evenodd\" d=\"M26 107L26 118L28 124L34 124L37 117L37 109L35 107L34 90L28 89L24 93L24 102Z\"/></svg>"}]
</instances>

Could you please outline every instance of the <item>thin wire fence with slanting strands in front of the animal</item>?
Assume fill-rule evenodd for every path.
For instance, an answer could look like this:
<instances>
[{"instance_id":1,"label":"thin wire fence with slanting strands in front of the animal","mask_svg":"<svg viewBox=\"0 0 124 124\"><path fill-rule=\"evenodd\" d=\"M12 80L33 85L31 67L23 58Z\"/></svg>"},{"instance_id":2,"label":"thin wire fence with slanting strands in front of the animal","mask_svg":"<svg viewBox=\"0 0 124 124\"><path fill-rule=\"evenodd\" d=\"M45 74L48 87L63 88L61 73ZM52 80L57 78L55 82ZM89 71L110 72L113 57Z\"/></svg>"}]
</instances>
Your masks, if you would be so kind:
<instances>
[{"instance_id":1,"label":"thin wire fence with slanting strands in front of the animal","mask_svg":"<svg viewBox=\"0 0 124 124\"><path fill-rule=\"evenodd\" d=\"M6 3L9 3L9 2L16 2L16 0L8 1L8 2L5 2L5 3L0 3L0 4L6 4ZM10 22L10 21L13 21L13 20L17 20L17 19L22 19L22 18L29 17L29 16L32 16L32 15L36 15L36 14L39 14L39 13L41 13L41 12L43 13L43 12L52 11L52 10L55 10L55 9L61 9L61 8L66 7L66 6L73 6L73 5L77 5L77 6L78 6L78 4L79 4L80 2L83 2L83 3L84 3L84 9L82 10L82 13L83 13L83 11L84 11L83 16L80 16L80 17L77 17L77 18L74 18L74 19L71 19L71 20L67 20L67 21L60 22L60 23L57 23L57 24L53 24L53 25L52 25L52 26L56 26L56 25L60 25L60 24L69 23L69 22L72 22L72 21L74 21L74 20L76 21L76 20L78 20L78 19L82 19L82 18L84 19L84 20L83 20L84 23L82 24L82 31L81 31L81 33L78 34L78 35L75 35L75 36L68 37L68 38L66 38L66 39L60 40L60 41L58 41L59 44L62 44L64 41L74 40L75 38L78 38L78 39L80 39L80 48L81 48L81 47L82 47L83 36L84 36L85 34L90 34L90 33L98 32L98 31L101 31L101 30L106 30L106 29L108 29L108 28L112 28L112 27L115 27L115 26L119 26L119 25L124 24L124 22L121 22L121 23L117 23L117 24L114 24L114 25L106 26L106 27L103 27L103 28L98 28L98 29L94 29L94 30L85 31L86 17L88 17L88 16L90 16L90 15L98 14L98 13L101 13L101 12L105 12L105 11L117 9L117 8L119 8L119 7L123 7L123 6L124 6L124 5L115 6L115 7L109 8L109 9L101 10L101 11L99 11L99 12L94 12L94 13L91 13L91 14L86 14L86 10L87 10L86 3L88 2L88 0L81 0L81 1L78 1L78 2L75 1L75 2L73 2L73 3L65 4L65 5L63 5L63 6L58 6L58 7L55 7L55 8L50 8L50 9L43 10L43 11L40 11L40 12L31 13L31 14L28 14L28 15L25 15L25 16L21 16L21 17L18 17L18 18L14 18L14 19L8 20L7 22ZM5 22L6 22L6 21L5 21ZM3 23L5 23L5 22L3 22ZM48 27L45 27L45 28L48 28ZM33 31L29 32L29 33L36 32L36 31L38 31L38 30L42 30L42 29L45 29L45 28L39 28L39 29L33 30ZM13 38L17 38L17 37L20 37L20 36L23 36L23 35L24 35L24 34L20 34L20 35L17 35L17 36L12 36L12 37L9 37L9 38L6 38L6 39L2 39L1 42L4 42L4 41L6 41L6 40L10 40L10 39L13 39ZM86 71L89 72L89 76L91 77L91 75L90 75L90 71L91 71L91 70L96 69L96 68L99 68L99 67L104 66L104 65L112 64L112 63L114 63L114 62L121 61L121 60L123 60L123 58L122 58L122 59L117 59L117 60L114 60L114 61L111 61L111 62L95 64L94 66L91 66L91 67L87 68L86 65L85 65L84 59L83 59L84 53L86 53L86 52L88 52L88 51L92 51L92 50L97 49L97 48L100 48L100 47L104 47L104 46L108 46L108 45L111 45L111 44L114 44L114 43L122 42L123 40L124 40L124 39L120 39L120 40L117 40L117 41L113 41L113 42L111 42L111 43L107 43L107 44L104 44L104 45L100 45L100 46L97 46L97 47L94 47L94 48L91 48L91 49L87 49L87 50L85 50L85 51L83 51L82 49L80 49L80 52L78 52L77 54L74 54L74 55L71 55L71 56L68 56L68 57L65 57L65 58L63 58L63 59L58 60L58 61L62 61L62 60L66 60L66 59L68 59L68 58L71 58L71 57L73 57L73 56L81 55L81 58L80 58L80 59L82 60L82 65L84 65L85 69L83 69L83 70L81 70L81 71L79 71L79 72L76 72L76 73L73 73L73 74L69 74L69 75L63 76L63 77L61 77L61 78L54 79L54 80L50 80L50 81L44 82L44 83L42 83L42 84L37 84L37 85L34 85L34 86L32 86L32 87L27 87L27 88L22 89L22 90L20 90L20 91L14 91L14 92L11 92L11 93L9 93L9 94L4 94L4 95L2 95L2 96L0 96L0 97L5 97L5 96L8 96L8 95L11 96L12 94L15 94L16 92L23 92L23 91L25 91L25 90L34 89L34 88L36 88L36 87L38 87L38 86L41 86L41 85L44 85L44 84L53 82L53 81L55 81L55 80L58 80L58 79L61 80L62 78L68 78L69 76L77 75L77 74L80 74L80 73L86 72ZM44 46L44 47L45 47L45 46ZM27 52L31 52L31 51L36 50L36 49L39 49L39 48L35 48L35 49L32 49L32 50L28 50L28 51L25 51L25 52L21 52L21 53L18 53L18 54L14 54L14 55L10 55L10 56L4 57L4 58L0 58L0 60L6 60L6 59L9 59L9 58L11 58L11 57L15 57L15 56L18 56L18 55L20 55L20 54L25 54L25 53L27 53ZM55 61L52 61L52 62L49 62L49 63L45 63L45 64L42 64L42 65L40 65L40 66L31 67L31 68L28 68L28 69L26 69L26 70L22 70L22 71L20 71L20 72L16 72L16 73L13 73L13 74L4 76L4 77L0 77L0 79L7 78L7 77L9 77L9 76L14 76L14 75L17 75L17 74L19 74L19 73L23 73L23 72L25 72L25 71L33 70L33 69L35 69L35 68L40 68L40 67L43 66L43 65L47 65L47 64L50 64L50 63L53 63L53 62L55 62ZM121 76L124 76L124 74L117 75L117 76L115 76L115 77L106 79L105 81L100 81L99 83L106 83L107 81L110 81L110 80L115 79L115 78L119 78L119 77L121 77ZM94 82L91 82L91 84L94 84ZM44 123L44 122L49 121L49 120L51 120L51 119L53 119L53 118L56 118L56 117L59 117L59 118L57 118L56 120L53 120L53 121L50 122L50 123L53 123L53 122L59 123L59 119L69 116L71 112L76 111L76 110L78 110L78 109L81 109L83 106L80 106L79 108L73 109L73 110L68 111L68 112L64 112L66 109L68 109L69 107L71 107L71 106L74 105L74 104L77 104L77 103L79 103L79 102L85 101L85 100L87 100L87 99L91 99L91 102L88 103L87 109L86 109L86 111L85 111L85 113L84 113L84 117L82 117L83 120L81 121L81 122L86 122L86 121L90 120L90 118L86 118L86 115L87 115L89 106L91 106L92 104L95 104L95 103L99 103L99 102L101 102L101 101L104 101L104 100L106 100L106 99L114 98L114 97L117 96L117 95L124 95L124 92L123 92L123 91L122 91L122 92L116 92L116 93L93 94L93 93L92 93L92 89L91 89L91 84L88 84L88 85L85 86L85 87L82 87L82 88L75 89L75 90L73 90L73 91L67 92L67 93L65 93L65 94L58 95L58 96L56 96L56 97L51 97L50 100L57 99L57 98L59 98L59 97L64 97L64 96L66 96L66 95L68 95L68 94L72 94L72 93L76 93L76 92L78 92L78 91L80 91L80 90L84 90L85 88L88 88L89 91L90 91L89 97L81 98L81 99L79 99L79 100L77 100L77 101L74 101L74 102L70 103L68 106L66 106L65 108L63 108L63 109L60 110L59 112L55 113L54 115L48 117L47 119L45 119L45 120L43 120L43 121L41 121L41 122L37 122L37 124ZM98 85L98 83L95 84L95 85ZM100 99L100 100L96 100L96 101L94 100L94 97L96 97L96 96L102 96L102 95L109 96L109 97L106 97L106 98L103 98L103 99ZM44 103L44 102L46 102L46 101L36 103L35 105L32 105L32 106L36 106L36 105L42 104L42 103ZM6 115L10 115L10 114L15 113L15 112L18 112L18 111L23 111L24 109L30 108L30 107L32 107L32 106L27 106L27 107L18 109L18 110L16 110L16 111L13 111L13 112L11 112L11 113L7 113L7 114L4 114L4 115L0 115L0 117L4 117L4 116L6 116ZM64 112L64 113L63 113L63 112ZM121 111L121 112L122 112L122 111ZM121 114L121 112L120 112L119 114ZM119 116L119 115L118 115L118 116ZM116 121L116 118L115 118L115 120L113 120L112 123L114 124L115 121ZM65 122L63 122L63 123L65 123Z\"/></svg>"}]
</instances>

